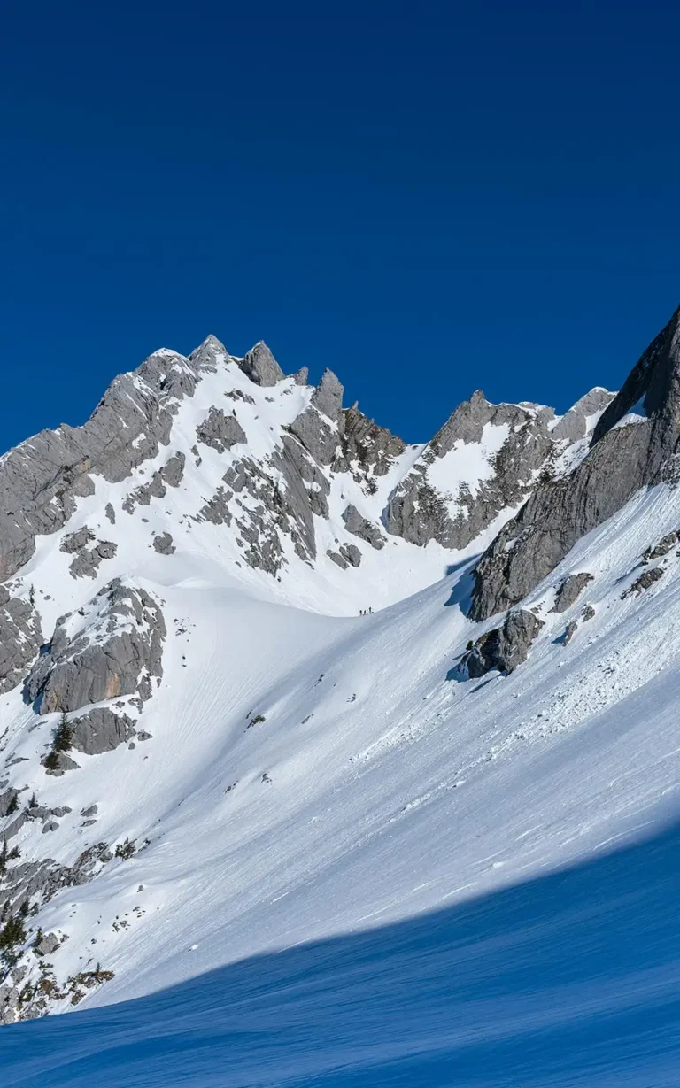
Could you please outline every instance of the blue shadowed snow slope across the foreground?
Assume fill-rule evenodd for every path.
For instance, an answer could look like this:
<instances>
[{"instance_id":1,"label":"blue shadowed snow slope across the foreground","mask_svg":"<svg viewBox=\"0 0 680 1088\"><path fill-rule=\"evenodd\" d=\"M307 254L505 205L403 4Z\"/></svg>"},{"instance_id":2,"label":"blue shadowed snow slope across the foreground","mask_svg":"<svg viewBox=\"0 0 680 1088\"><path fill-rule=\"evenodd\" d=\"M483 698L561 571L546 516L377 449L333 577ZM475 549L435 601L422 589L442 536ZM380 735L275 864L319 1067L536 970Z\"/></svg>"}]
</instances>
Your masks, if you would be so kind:
<instances>
[{"instance_id":1,"label":"blue shadowed snow slope across the foreground","mask_svg":"<svg viewBox=\"0 0 680 1088\"><path fill-rule=\"evenodd\" d=\"M0 1033L7 1088L671 1088L680 836Z\"/></svg>"}]
</instances>

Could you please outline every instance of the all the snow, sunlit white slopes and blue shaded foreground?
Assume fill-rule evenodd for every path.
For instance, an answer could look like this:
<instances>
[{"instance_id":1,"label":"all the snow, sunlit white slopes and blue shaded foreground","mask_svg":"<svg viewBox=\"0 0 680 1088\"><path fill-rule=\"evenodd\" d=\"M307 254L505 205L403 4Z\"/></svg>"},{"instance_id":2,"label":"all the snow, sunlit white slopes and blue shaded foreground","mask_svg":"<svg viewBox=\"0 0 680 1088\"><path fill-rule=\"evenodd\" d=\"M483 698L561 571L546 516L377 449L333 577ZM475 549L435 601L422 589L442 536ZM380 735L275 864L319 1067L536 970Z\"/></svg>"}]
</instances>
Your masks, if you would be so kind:
<instances>
[{"instance_id":1,"label":"all the snow, sunlit white slopes and blue shaded foreground","mask_svg":"<svg viewBox=\"0 0 680 1088\"><path fill-rule=\"evenodd\" d=\"M230 380L267 457L309 391ZM182 404L136 484L190 450L220 381ZM467 462L465 445L442 458L437 487L473 490L506 436L493 432ZM64 530L38 537L13 584L46 636L66 611L72 633L91 632L89 602L119 577L161 604L168 635L136 722L150 737L77 753L62 777L39 762L59 715L36 717L21 687L0 696L11 786L70 809L50 856L137 846L41 908L42 930L67 938L61 975L114 977L66 1017L0 1030L8 1088L680 1083L678 549L623 596L680 526L680 493L641 492L583 537L522 604L544 625L528 660L467 679L469 642L498 623L467 618L471 569L512 509L465 552L386 536L356 569L325 556L353 540L347 503L379 517L421 450L372 495L333 480L319 561L290 551L279 579L240 561L233 527L189 517L237 446L187 453L181 484L132 514L129 481L98 478ZM115 555L74 579L60 545L85 526ZM164 532L170 555L152 546ZM580 571L593 581L551 611ZM35 823L16 841L23 860L45 856Z\"/></svg>"}]
</instances>

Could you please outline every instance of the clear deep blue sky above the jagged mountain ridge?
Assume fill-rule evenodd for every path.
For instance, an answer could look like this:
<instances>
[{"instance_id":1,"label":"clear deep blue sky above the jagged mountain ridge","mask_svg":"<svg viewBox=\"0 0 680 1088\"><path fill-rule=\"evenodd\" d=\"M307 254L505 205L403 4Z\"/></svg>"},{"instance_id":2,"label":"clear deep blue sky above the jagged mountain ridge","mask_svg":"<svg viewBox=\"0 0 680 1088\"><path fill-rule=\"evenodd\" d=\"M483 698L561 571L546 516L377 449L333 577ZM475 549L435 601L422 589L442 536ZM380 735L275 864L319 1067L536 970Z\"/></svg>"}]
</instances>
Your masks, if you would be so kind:
<instances>
[{"instance_id":1,"label":"clear deep blue sky above the jagged mountain ridge","mask_svg":"<svg viewBox=\"0 0 680 1088\"><path fill-rule=\"evenodd\" d=\"M0 15L0 446L209 332L407 440L617 387L680 301L680 8Z\"/></svg>"}]
</instances>

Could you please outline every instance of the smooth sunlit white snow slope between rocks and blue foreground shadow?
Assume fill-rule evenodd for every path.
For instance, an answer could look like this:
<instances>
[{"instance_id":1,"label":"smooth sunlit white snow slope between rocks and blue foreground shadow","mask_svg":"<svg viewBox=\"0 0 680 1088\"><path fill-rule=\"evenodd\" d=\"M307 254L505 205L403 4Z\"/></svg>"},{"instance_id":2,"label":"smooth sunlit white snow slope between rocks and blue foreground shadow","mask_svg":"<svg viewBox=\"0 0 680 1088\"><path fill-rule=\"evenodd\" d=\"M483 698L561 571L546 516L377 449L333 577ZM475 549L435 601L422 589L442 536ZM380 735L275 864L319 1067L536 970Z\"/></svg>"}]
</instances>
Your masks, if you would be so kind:
<instances>
[{"instance_id":1,"label":"smooth sunlit white snow slope between rocks and blue foreground shadow","mask_svg":"<svg viewBox=\"0 0 680 1088\"><path fill-rule=\"evenodd\" d=\"M36 750L57 717L40 732L18 691L2 704L22 806L35 792L41 813L61 814L48 816L50 855L73 867L96 843L136 845L41 906L44 931L69 938L50 956L59 977L99 963L115 977L85 1002L147 993L654 828L679 800L676 548L644 568L657 581L633 586L679 520L662 486L584 539L527 602L544 622L527 663L482 681L458 667L483 629L461 611L465 568L367 618L258 601L208 571L147 582L169 635L135 749L74 752L78 768L49 777ZM593 581L554 611L583 570ZM12 840L22 860L45 854L41 826Z\"/></svg>"}]
</instances>

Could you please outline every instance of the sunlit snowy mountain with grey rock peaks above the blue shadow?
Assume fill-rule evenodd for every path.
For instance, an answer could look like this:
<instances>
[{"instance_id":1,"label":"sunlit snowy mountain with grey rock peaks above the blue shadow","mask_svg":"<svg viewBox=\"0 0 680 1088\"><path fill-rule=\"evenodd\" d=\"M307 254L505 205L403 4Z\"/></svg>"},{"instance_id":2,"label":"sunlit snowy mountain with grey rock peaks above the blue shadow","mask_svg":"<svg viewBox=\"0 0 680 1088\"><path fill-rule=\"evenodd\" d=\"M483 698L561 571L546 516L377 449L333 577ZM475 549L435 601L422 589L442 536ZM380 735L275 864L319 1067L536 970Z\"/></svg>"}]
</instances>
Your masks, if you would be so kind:
<instances>
[{"instance_id":1,"label":"sunlit snowy mountain with grey rock peaks above the blue shadow","mask_svg":"<svg viewBox=\"0 0 680 1088\"><path fill-rule=\"evenodd\" d=\"M209 337L5 454L0 1017L448 907L665 819L679 391L675 314L616 396L474 393L407 445L330 371Z\"/></svg>"}]
</instances>

